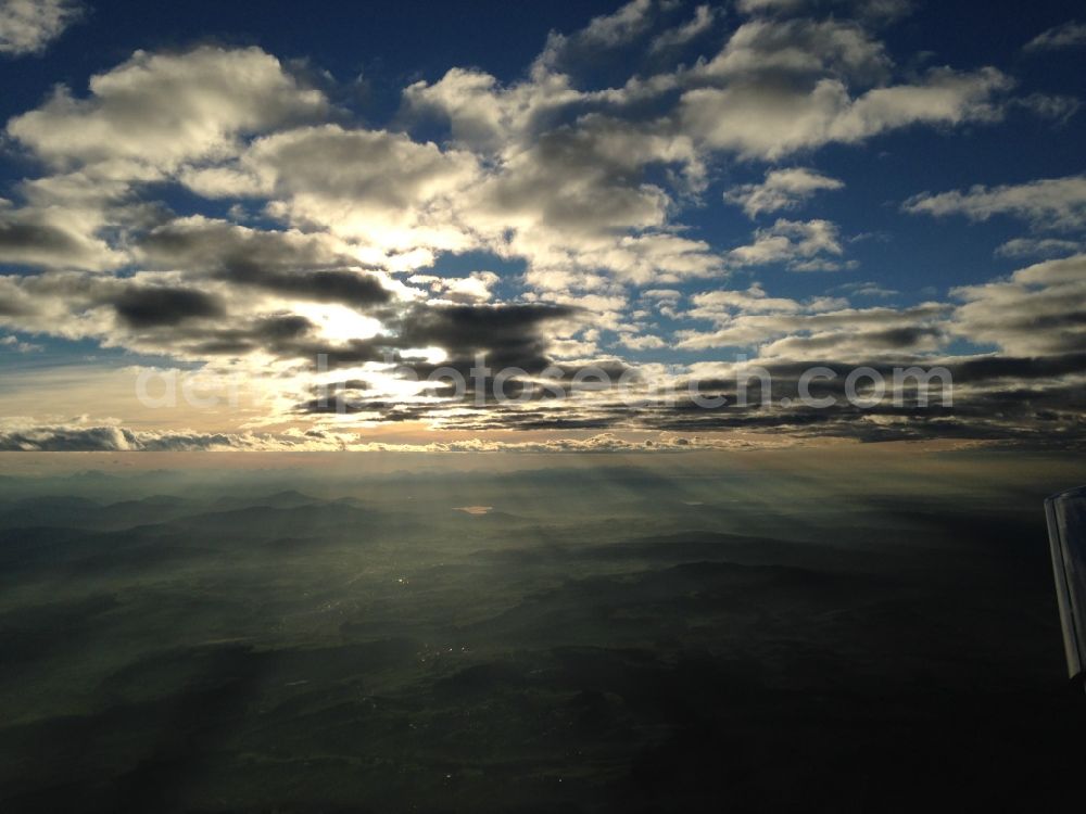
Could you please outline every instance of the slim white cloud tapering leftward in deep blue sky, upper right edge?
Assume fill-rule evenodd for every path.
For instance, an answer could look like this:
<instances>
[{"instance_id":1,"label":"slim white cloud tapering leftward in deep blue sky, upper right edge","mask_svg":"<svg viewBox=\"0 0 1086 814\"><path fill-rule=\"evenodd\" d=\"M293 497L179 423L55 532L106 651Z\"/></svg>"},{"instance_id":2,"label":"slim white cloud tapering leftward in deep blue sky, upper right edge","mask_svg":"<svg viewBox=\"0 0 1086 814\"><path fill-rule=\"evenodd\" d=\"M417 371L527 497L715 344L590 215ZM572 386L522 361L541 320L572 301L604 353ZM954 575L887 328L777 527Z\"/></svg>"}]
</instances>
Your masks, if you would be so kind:
<instances>
[{"instance_id":1,"label":"slim white cloud tapering leftward in deep blue sky, upper right edge","mask_svg":"<svg viewBox=\"0 0 1086 814\"><path fill-rule=\"evenodd\" d=\"M1086 176L990 188L977 185L967 192L922 192L906 201L902 209L936 217L964 215L977 221L1009 215L1036 229L1082 229L1086 227Z\"/></svg>"}]
</instances>

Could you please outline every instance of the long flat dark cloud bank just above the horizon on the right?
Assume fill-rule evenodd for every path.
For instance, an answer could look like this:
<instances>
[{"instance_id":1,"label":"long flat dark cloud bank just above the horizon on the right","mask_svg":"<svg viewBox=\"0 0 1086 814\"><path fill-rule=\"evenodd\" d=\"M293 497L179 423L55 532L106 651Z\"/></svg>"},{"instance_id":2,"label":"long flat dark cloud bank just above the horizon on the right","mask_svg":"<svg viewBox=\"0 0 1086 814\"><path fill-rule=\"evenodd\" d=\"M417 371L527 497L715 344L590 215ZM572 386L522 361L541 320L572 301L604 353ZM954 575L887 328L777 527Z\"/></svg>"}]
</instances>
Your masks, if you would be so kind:
<instances>
[{"instance_id":1,"label":"long flat dark cloud bank just above the horizon on the right","mask_svg":"<svg viewBox=\"0 0 1086 814\"><path fill-rule=\"evenodd\" d=\"M904 358L897 363L885 359L866 364L822 361L765 361L772 377L766 393L752 378L747 404L741 406L734 379L703 379L696 382L703 397L722 397L722 404L707 407L705 402L687 397L690 382L680 382L678 399L666 402L651 393L643 399L620 399L617 392L605 392L591 402L569 398L560 410L538 409L539 399L522 404L496 403L488 398L482 404L464 399L455 415L445 415L450 405L430 405L430 417L441 417L451 429L487 431L516 430L655 430L672 432L715 433L743 430L755 433L787 433L797 437L850 437L863 442L920 440L944 437L1005 442L1034 447L1078 447L1086 445L1086 419L1081 405L1086 387L1061 377L1086 372L1086 355L1064 358L1008 359L980 357L965 361L943 360L957 389L952 399L944 402L940 384L929 392L918 380L907 379L899 400L888 395L874 406L857 405L846 398L845 379L853 370L866 366L877 371L889 384L895 368L923 367L940 364L931 358ZM830 396L833 404L805 406L797 400L799 377L812 366L835 373L830 380L819 379L810 386L815 398ZM1010 382L1032 379L1034 387L1009 387ZM927 399L924 395L929 395ZM516 393L508 395L515 396ZM569 392L559 394L570 396ZM950 395L948 393L947 395ZM782 404L787 398L790 403Z\"/></svg>"}]
</instances>

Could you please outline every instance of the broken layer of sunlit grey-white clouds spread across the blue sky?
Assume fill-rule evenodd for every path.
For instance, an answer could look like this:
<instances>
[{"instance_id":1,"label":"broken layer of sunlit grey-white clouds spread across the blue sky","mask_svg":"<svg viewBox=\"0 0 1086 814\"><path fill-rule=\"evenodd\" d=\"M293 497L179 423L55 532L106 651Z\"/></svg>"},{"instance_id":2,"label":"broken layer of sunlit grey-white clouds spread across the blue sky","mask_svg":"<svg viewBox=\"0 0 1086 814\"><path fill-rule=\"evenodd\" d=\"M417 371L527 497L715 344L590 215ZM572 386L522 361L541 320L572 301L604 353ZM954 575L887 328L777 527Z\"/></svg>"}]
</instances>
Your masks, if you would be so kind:
<instances>
[{"instance_id":1,"label":"broken layer of sunlit grey-white clouds spread across the blue sky","mask_svg":"<svg viewBox=\"0 0 1086 814\"><path fill-rule=\"evenodd\" d=\"M4 3L0 50L40 50L72 8ZM899 63L881 31L907 12L745 0L680 13L634 0L552 33L518 78L455 66L414 81L380 122L344 106L333 80L318 87L317 72L255 47L137 51L86 88L58 86L5 127L36 168L0 199L11 346L87 341L260 380L274 398L220 434L26 427L3 444L308 448L325 443L310 431L343 445L337 433L388 422L1031 443L1053 428L1081 433L1082 176L894 202L898 217L1019 221L1024 233L999 256L1049 260L899 304L886 287L830 281L879 236L813 212L853 189L818 168L824 152L998 127L1012 110L1045 115L1041 97L1015 97L996 66ZM1076 36L1069 24L1027 50ZM594 82L609 56L631 71ZM697 226L706 212L725 239ZM781 282L800 276L816 282ZM736 353L746 359L725 360ZM479 405L473 390L427 381L481 355L515 368L521 403ZM804 366L896 364L960 374L956 406L920 411L915 392L908 405L820 414L657 397L696 382L727 400L725 382L753 365L786 390ZM629 371L643 407L573 386L589 369ZM544 381L551 395L533 395ZM321 404L315 391L328 385L350 409Z\"/></svg>"}]
</instances>

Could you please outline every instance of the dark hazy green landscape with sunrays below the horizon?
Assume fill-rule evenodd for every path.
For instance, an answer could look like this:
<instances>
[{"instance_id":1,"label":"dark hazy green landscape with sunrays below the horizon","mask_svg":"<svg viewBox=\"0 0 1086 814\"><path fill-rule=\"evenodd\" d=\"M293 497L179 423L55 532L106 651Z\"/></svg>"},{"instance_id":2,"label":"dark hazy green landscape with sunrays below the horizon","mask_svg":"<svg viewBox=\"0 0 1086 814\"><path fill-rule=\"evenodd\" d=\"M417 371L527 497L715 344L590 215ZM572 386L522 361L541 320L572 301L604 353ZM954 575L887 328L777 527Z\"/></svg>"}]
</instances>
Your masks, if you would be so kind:
<instances>
[{"instance_id":1,"label":"dark hazy green landscape with sunrays below the horizon","mask_svg":"<svg viewBox=\"0 0 1086 814\"><path fill-rule=\"evenodd\" d=\"M1077 799L1074 461L452 457L4 478L0 807Z\"/></svg>"}]
</instances>

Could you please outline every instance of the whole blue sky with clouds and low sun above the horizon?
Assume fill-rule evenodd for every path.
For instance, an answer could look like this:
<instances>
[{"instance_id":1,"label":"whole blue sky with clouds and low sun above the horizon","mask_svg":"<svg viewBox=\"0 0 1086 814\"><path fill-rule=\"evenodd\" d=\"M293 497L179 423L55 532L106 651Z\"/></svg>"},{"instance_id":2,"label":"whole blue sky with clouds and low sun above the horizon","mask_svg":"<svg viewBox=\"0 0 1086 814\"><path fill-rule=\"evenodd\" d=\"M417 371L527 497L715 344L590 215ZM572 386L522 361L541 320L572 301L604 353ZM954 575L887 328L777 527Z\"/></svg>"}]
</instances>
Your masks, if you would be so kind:
<instances>
[{"instance_id":1,"label":"whole blue sky with clouds and low sun above the horizon","mask_svg":"<svg viewBox=\"0 0 1086 814\"><path fill-rule=\"evenodd\" d=\"M1073 11L0 0L0 449L1077 448Z\"/></svg>"}]
</instances>

